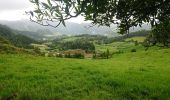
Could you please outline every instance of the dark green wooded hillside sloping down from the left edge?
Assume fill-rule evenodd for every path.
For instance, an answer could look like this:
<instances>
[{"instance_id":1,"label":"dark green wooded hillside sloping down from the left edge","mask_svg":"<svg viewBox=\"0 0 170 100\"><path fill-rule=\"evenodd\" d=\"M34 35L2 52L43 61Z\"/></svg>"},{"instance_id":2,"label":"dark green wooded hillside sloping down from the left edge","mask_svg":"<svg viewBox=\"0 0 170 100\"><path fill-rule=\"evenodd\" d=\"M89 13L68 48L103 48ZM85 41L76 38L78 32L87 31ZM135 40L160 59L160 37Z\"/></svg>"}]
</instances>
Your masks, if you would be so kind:
<instances>
[{"instance_id":1,"label":"dark green wooded hillside sloping down from the left edge","mask_svg":"<svg viewBox=\"0 0 170 100\"><path fill-rule=\"evenodd\" d=\"M10 29L5 25L0 24L0 37L9 40L16 47L30 48L31 43L36 43L34 39L27 36L17 34L16 31Z\"/></svg>"}]
</instances>

